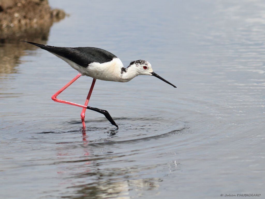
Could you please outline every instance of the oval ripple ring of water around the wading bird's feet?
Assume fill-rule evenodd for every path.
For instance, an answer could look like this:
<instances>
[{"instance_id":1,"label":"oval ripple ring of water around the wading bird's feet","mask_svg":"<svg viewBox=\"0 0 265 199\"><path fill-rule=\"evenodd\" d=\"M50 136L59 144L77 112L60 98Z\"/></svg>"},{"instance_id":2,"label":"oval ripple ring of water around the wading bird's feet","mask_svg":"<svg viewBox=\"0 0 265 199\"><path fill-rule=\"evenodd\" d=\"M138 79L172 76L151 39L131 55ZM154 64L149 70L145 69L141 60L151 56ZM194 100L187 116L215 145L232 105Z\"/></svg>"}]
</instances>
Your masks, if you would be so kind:
<instances>
[{"instance_id":1,"label":"oval ripple ring of water around the wading bird's feet","mask_svg":"<svg viewBox=\"0 0 265 199\"><path fill-rule=\"evenodd\" d=\"M40 133L59 133L64 134L63 142L72 132L82 133L88 142L100 143L107 141L132 141L152 139L158 137L170 136L179 133L187 128L187 123L173 119L163 118L113 118L119 125L119 129L109 124L107 119L86 120L86 129L81 128L80 121L70 121L63 123L65 130L62 128ZM59 130L60 129L60 130ZM69 135L70 136L70 135ZM68 137L70 139L70 137ZM73 140L68 140L67 142Z\"/></svg>"}]
</instances>

